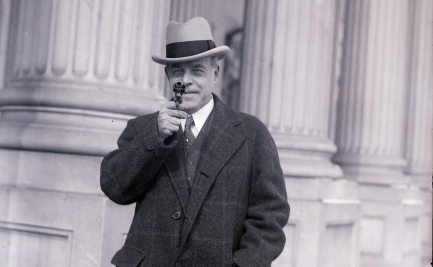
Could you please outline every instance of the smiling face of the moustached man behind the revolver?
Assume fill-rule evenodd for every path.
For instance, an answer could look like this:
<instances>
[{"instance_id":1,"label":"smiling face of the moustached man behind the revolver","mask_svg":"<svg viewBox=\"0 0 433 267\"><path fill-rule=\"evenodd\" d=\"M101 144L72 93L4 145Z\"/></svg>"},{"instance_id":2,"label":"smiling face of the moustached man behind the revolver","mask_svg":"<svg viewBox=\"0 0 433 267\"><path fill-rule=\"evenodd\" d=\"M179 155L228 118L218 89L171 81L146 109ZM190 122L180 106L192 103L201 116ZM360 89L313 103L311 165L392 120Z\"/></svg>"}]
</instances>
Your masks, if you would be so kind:
<instances>
[{"instance_id":1,"label":"smiling face of the moustached man behind the revolver","mask_svg":"<svg viewBox=\"0 0 433 267\"><path fill-rule=\"evenodd\" d=\"M186 91L182 102L186 112L192 114L211 100L211 94L218 79L219 67L212 67L211 57L194 61L168 64L165 67L170 86L182 80ZM174 96L174 94L173 94Z\"/></svg>"}]
</instances>

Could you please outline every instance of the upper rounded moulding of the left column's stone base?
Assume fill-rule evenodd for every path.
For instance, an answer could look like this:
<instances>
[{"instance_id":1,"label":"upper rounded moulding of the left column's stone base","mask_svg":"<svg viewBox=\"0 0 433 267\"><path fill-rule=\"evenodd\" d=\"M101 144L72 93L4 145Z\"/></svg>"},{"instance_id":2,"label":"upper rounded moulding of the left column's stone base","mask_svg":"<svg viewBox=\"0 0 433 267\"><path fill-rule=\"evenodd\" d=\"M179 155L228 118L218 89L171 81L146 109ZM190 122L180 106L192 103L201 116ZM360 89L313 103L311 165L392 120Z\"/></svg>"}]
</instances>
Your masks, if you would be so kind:
<instances>
[{"instance_id":1,"label":"upper rounded moulding of the left column's stone base","mask_svg":"<svg viewBox=\"0 0 433 267\"><path fill-rule=\"evenodd\" d=\"M159 110L165 99L150 91L54 81L14 82L0 90L0 106L75 108L138 116Z\"/></svg>"}]
</instances>

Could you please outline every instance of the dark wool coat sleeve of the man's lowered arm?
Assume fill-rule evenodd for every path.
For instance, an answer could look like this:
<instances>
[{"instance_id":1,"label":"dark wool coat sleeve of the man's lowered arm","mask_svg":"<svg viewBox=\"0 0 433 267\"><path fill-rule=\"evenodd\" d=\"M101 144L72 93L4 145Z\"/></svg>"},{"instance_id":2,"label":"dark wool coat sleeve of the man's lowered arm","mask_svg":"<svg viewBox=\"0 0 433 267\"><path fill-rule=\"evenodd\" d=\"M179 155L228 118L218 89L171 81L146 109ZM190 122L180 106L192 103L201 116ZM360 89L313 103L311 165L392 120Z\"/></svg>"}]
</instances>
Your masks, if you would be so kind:
<instances>
[{"instance_id":1,"label":"dark wool coat sleeve of the man's lowered arm","mask_svg":"<svg viewBox=\"0 0 433 267\"><path fill-rule=\"evenodd\" d=\"M233 255L237 267L271 266L284 248L282 228L290 211L274 140L261 122L257 124L244 234Z\"/></svg>"}]
</instances>

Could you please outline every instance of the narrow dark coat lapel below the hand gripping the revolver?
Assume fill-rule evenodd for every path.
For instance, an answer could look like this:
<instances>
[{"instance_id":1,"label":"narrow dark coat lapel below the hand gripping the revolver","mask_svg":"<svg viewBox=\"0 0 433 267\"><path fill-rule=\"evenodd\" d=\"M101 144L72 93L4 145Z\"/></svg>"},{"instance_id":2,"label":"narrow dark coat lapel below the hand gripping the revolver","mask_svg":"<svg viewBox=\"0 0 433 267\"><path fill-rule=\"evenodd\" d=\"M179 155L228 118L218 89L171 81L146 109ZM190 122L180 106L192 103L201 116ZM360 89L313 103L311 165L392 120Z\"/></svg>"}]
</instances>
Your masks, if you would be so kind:
<instances>
[{"instance_id":1,"label":"narrow dark coat lapel below the hand gripping the revolver","mask_svg":"<svg viewBox=\"0 0 433 267\"><path fill-rule=\"evenodd\" d=\"M189 185L186 181L185 148L182 128L178 133L178 143L165 160L165 167L181 201L182 209L186 211L189 196Z\"/></svg>"}]
</instances>

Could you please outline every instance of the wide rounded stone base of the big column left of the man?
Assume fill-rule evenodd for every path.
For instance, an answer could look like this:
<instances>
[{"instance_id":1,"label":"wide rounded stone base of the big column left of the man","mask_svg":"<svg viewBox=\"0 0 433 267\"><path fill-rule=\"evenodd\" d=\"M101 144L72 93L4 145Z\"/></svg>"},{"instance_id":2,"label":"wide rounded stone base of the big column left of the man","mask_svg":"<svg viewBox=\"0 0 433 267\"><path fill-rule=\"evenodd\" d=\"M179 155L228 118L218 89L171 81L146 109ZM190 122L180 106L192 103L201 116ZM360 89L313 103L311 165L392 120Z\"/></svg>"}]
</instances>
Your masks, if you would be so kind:
<instances>
[{"instance_id":1,"label":"wide rounded stone base of the big column left of the man","mask_svg":"<svg viewBox=\"0 0 433 267\"><path fill-rule=\"evenodd\" d=\"M94 87L27 86L0 90L2 148L104 156L117 148L127 120L155 112L162 100Z\"/></svg>"}]
</instances>

